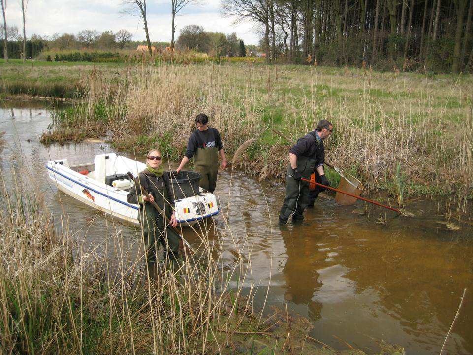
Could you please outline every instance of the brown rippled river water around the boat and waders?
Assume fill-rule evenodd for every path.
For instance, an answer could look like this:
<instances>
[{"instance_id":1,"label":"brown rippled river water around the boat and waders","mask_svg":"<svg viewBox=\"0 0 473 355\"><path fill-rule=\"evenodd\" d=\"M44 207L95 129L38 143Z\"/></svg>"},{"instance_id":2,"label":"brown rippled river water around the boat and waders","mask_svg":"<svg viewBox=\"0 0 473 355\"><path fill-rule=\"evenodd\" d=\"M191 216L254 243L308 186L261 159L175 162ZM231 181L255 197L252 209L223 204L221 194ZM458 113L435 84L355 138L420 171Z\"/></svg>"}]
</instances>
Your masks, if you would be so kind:
<instances>
[{"instance_id":1,"label":"brown rippled river water around the boat and waders","mask_svg":"<svg viewBox=\"0 0 473 355\"><path fill-rule=\"evenodd\" d=\"M13 158L20 148L51 213L64 213L71 231L80 229L77 234L88 243L99 244L110 218L59 194L44 166L57 158L68 158L71 164L89 162L112 149L105 143L43 146L38 136L51 123L46 105L3 102L0 131L6 131L6 143L0 147L1 169L8 175L18 164ZM376 341L383 339L403 346L407 354L438 354L466 287L443 354L473 354L473 227L452 220L460 226L454 231L438 223L445 221L439 207L445 201L409 200L415 217L406 218L378 207L359 215L352 211L364 208L363 203L341 207L333 199L319 198L302 225L279 227L284 191L282 184L260 185L240 172L232 178L229 172L221 173L217 183L223 214L216 218L212 238L233 239L223 251L224 267L235 264L240 254L251 263L256 307L268 293L265 310L287 303L289 312L313 323L311 336L339 350L348 349L345 341L373 353ZM379 217L387 223L378 224ZM118 225L125 243L137 242L134 226ZM198 245L192 232L184 236Z\"/></svg>"}]
</instances>

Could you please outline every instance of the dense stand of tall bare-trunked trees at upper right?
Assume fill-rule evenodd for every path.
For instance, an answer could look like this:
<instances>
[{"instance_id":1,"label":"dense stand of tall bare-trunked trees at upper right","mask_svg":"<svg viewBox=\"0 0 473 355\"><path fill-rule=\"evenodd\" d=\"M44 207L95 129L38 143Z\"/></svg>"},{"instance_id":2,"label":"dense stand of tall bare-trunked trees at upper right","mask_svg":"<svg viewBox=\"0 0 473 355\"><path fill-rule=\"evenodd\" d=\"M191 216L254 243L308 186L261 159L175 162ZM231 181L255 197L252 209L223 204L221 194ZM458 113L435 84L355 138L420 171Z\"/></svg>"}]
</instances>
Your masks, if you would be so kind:
<instances>
[{"instance_id":1,"label":"dense stand of tall bare-trunked trees at upper right","mask_svg":"<svg viewBox=\"0 0 473 355\"><path fill-rule=\"evenodd\" d=\"M268 62L472 71L472 0L222 0Z\"/></svg>"}]
</instances>

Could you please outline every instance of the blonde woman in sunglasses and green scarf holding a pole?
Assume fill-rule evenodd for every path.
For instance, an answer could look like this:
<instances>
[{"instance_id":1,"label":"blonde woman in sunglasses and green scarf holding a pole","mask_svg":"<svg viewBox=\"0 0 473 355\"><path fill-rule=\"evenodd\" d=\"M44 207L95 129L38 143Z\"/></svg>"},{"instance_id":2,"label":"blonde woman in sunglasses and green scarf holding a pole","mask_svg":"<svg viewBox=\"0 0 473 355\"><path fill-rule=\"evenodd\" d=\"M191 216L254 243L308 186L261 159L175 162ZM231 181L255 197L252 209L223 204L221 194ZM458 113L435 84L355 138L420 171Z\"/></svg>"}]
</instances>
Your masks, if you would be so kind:
<instances>
[{"instance_id":1,"label":"blonde woman in sunglasses and green scarf holding a pole","mask_svg":"<svg viewBox=\"0 0 473 355\"><path fill-rule=\"evenodd\" d=\"M151 279L156 279L157 276L156 259L159 243L164 248L165 259L169 261L177 258L179 249L179 236L166 222L167 217L171 226L177 226L173 210L174 199L167 189L169 177L164 174L161 163L161 152L158 149L149 151L146 169L135 178L135 187L127 197L128 203L140 206L138 220L143 230L146 270ZM148 194L142 194L142 191ZM153 203L156 203L166 216L160 214Z\"/></svg>"}]
</instances>

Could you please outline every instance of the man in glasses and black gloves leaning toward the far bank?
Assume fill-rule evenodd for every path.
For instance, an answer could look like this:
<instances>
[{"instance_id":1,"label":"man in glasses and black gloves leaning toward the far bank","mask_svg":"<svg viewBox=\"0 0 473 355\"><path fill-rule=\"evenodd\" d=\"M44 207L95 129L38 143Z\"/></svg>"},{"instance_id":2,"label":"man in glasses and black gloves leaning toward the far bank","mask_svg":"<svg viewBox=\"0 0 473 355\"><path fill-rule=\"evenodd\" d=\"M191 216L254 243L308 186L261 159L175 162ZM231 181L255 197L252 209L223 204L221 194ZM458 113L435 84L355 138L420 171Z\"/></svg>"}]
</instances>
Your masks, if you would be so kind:
<instances>
[{"instance_id":1,"label":"man in glasses and black gloves leaning toward the far bank","mask_svg":"<svg viewBox=\"0 0 473 355\"><path fill-rule=\"evenodd\" d=\"M297 140L289 150L289 164L286 174L286 197L279 213L279 223L285 225L289 217L293 222L304 220L303 212L309 204L309 182L315 171L322 185L329 186L323 172L325 151L323 140L332 134L333 125L321 120L317 129Z\"/></svg>"}]
</instances>

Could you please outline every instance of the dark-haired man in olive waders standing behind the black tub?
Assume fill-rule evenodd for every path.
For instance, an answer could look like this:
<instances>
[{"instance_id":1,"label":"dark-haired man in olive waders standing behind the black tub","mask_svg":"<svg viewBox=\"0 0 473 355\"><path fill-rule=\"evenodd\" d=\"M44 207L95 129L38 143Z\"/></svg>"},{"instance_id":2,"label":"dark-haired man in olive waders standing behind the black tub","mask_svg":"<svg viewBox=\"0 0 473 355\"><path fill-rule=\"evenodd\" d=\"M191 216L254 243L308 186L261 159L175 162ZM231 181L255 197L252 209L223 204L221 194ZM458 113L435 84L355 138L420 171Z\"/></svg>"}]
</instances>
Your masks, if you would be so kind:
<instances>
[{"instance_id":1,"label":"dark-haired man in olive waders standing behind the black tub","mask_svg":"<svg viewBox=\"0 0 473 355\"><path fill-rule=\"evenodd\" d=\"M204 113L200 113L195 117L197 128L190 135L186 154L182 158L176 172L179 173L189 160L194 157L195 171L200 173L199 186L214 193L217 183L219 154L222 159L222 170L225 170L227 160L223 151L220 133L217 129L210 127L208 122L209 118Z\"/></svg>"}]
</instances>

